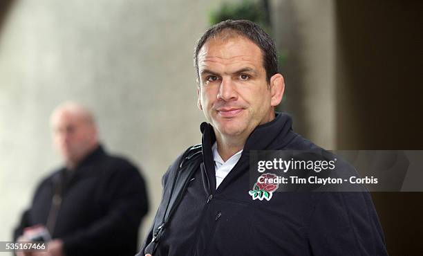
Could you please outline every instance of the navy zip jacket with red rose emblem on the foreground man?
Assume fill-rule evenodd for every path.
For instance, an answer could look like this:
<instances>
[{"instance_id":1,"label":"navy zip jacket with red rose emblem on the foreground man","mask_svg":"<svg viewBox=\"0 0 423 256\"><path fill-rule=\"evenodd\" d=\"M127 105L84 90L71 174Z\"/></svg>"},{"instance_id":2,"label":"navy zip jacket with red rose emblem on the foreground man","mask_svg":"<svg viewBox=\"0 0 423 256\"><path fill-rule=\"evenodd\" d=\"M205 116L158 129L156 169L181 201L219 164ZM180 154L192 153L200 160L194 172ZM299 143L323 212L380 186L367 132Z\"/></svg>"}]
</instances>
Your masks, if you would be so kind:
<instances>
[{"instance_id":1,"label":"navy zip jacket with red rose emblem on the foreground man","mask_svg":"<svg viewBox=\"0 0 423 256\"><path fill-rule=\"evenodd\" d=\"M275 192L270 201L248 193L249 152L318 148L292 131L292 120L278 113L250 135L240 160L216 190L211 125L203 123L203 157L187 192L167 224L153 256L386 255L384 236L367 192ZM179 157L163 176L163 200L138 255L150 253L162 222ZM186 170L184 170L185 172ZM151 244L150 244L151 245ZM146 249L147 248L147 249Z\"/></svg>"}]
</instances>

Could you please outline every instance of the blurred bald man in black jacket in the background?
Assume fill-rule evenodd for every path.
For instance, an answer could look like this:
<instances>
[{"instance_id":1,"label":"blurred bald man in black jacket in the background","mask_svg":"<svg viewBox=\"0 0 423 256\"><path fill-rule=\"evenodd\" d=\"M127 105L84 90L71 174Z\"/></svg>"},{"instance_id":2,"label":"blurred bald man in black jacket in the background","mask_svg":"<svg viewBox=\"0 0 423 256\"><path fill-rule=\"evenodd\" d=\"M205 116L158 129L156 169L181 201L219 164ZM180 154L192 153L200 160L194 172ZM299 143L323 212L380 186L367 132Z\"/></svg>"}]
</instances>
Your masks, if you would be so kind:
<instances>
[{"instance_id":1,"label":"blurred bald man in black jacket in the background","mask_svg":"<svg viewBox=\"0 0 423 256\"><path fill-rule=\"evenodd\" d=\"M15 240L28 241L37 237L34 230L47 230L50 235L44 239L52 239L48 252L26 255L133 255L148 210L140 172L124 158L104 151L94 118L81 105L60 105L51 125L65 166L38 186Z\"/></svg>"}]
</instances>

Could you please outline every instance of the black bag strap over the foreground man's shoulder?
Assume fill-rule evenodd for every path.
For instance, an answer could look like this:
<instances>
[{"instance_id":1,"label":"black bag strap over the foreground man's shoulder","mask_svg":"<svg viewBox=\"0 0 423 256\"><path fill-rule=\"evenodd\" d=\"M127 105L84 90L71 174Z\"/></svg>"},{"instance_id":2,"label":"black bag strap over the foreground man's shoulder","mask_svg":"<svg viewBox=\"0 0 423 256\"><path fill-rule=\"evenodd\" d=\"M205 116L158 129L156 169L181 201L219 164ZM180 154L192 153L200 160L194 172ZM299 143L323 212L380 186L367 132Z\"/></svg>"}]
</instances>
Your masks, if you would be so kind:
<instances>
[{"instance_id":1,"label":"black bag strap over the foreground man's shoulder","mask_svg":"<svg viewBox=\"0 0 423 256\"><path fill-rule=\"evenodd\" d=\"M150 244L145 248L145 253L153 253L156 252L156 248L160 241L160 238L164 234L164 230L166 230L167 225L171 221L171 217L175 212L176 208L180 201L182 201L183 196L188 188L188 183L191 181L192 176L194 173L199 169L200 162L198 161L198 157L202 156L202 146L201 144L194 145L189 147L182 157L180 158L180 163L178 165L178 170L174 172L173 176L171 176L169 181L173 181L171 192L169 199L167 201L166 210L164 211L162 217L162 223L153 230L153 239L151 240ZM197 160L197 161L194 161Z\"/></svg>"}]
</instances>

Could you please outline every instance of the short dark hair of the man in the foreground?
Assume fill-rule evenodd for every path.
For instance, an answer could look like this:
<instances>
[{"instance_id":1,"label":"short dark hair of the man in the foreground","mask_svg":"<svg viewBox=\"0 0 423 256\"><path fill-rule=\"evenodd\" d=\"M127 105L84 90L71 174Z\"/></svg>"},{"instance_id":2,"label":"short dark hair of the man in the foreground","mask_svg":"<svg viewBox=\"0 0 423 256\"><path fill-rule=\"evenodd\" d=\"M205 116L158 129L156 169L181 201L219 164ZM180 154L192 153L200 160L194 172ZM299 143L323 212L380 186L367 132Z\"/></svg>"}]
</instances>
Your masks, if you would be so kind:
<instances>
[{"instance_id":1,"label":"short dark hair of the man in the foreground","mask_svg":"<svg viewBox=\"0 0 423 256\"><path fill-rule=\"evenodd\" d=\"M270 38L265 31L252 21L245 19L232 20L228 19L215 24L198 39L194 53L194 66L196 67L197 78L200 81L200 74L198 70L198 53L204 44L211 37L218 37L225 32L234 32L241 37L250 39L256 46L259 46L263 53L263 67L266 71L267 82L270 82L270 77L278 73L278 60L276 57L276 48L273 39Z\"/></svg>"}]
</instances>

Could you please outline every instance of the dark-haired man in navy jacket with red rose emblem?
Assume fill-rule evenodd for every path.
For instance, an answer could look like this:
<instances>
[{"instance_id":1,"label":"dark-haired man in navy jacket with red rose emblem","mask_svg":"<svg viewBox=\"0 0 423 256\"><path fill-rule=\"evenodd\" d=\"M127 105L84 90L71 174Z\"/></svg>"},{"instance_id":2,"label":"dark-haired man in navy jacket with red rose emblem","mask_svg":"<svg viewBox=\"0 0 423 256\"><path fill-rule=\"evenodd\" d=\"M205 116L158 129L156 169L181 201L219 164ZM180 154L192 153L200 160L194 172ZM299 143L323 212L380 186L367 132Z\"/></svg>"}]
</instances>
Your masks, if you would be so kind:
<instances>
[{"instance_id":1,"label":"dark-haired man in navy jacket with red rose emblem","mask_svg":"<svg viewBox=\"0 0 423 256\"><path fill-rule=\"evenodd\" d=\"M250 194L251 150L319 149L274 112L284 80L272 39L250 21L223 21L200 38L194 62L202 144L164 174L138 255L386 255L367 192Z\"/></svg>"}]
</instances>

